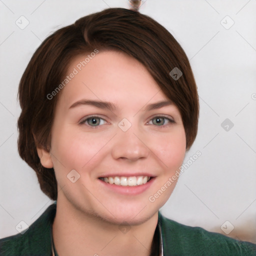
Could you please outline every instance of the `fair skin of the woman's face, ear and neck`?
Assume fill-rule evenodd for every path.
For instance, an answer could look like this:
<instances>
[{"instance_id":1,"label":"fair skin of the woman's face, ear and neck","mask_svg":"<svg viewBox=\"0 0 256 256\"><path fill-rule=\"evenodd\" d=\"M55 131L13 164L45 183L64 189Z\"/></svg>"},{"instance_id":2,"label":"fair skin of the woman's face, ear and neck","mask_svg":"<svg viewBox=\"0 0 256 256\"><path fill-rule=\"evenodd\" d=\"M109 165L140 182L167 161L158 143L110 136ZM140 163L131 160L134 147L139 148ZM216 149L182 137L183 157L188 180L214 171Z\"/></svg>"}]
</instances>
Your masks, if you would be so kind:
<instances>
[{"instance_id":1,"label":"fair skin of the woman's face, ear and neck","mask_svg":"<svg viewBox=\"0 0 256 256\"><path fill-rule=\"evenodd\" d=\"M84 56L73 59L68 74L82 60ZM52 233L59 256L148 256L158 210L175 183L154 202L148 198L185 155L177 107L141 63L115 51L99 51L60 93L50 151L37 148L42 165L53 167L57 179ZM131 124L126 131L122 127L129 123L123 118ZM67 178L72 169L80 175L74 183ZM109 176L151 178L133 186L100 179ZM124 221L130 228L125 233L120 229Z\"/></svg>"}]
</instances>

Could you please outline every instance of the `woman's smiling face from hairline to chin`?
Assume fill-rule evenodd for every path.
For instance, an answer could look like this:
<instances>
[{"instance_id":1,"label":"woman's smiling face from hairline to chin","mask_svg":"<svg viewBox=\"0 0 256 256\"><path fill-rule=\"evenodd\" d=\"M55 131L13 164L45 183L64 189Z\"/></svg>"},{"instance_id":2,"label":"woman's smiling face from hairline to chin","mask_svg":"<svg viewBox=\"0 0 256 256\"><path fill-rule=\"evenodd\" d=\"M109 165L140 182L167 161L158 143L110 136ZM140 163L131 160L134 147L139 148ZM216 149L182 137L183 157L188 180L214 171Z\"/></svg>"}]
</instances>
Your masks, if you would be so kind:
<instances>
[{"instance_id":1,"label":"woman's smiling face from hairline to chin","mask_svg":"<svg viewBox=\"0 0 256 256\"><path fill-rule=\"evenodd\" d=\"M175 186L168 180L186 145L181 115L134 58L99 51L82 66L85 57L73 59L58 92L51 149L41 162L54 168L58 203L113 223L141 223Z\"/></svg>"}]
</instances>

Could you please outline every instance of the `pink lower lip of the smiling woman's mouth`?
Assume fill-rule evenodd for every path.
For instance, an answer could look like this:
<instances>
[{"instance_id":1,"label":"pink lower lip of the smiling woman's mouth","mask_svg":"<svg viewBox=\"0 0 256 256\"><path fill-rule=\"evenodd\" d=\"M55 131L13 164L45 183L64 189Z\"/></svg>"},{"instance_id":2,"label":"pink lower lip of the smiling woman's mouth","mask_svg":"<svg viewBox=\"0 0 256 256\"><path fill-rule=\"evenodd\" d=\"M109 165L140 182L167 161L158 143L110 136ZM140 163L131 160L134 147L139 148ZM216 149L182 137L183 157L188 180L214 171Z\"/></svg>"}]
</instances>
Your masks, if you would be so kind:
<instances>
[{"instance_id":1,"label":"pink lower lip of the smiling woman's mouth","mask_svg":"<svg viewBox=\"0 0 256 256\"><path fill-rule=\"evenodd\" d=\"M117 192L119 194L124 194L124 195L137 195L142 192L144 192L146 189L148 189L151 184L154 182L155 177L152 177L150 180L148 180L145 184L142 185L136 185L136 186L122 186L122 185L115 185L115 184L110 184L107 183L101 179L98 179L99 182L102 183L107 189L110 189L114 192Z\"/></svg>"}]
</instances>

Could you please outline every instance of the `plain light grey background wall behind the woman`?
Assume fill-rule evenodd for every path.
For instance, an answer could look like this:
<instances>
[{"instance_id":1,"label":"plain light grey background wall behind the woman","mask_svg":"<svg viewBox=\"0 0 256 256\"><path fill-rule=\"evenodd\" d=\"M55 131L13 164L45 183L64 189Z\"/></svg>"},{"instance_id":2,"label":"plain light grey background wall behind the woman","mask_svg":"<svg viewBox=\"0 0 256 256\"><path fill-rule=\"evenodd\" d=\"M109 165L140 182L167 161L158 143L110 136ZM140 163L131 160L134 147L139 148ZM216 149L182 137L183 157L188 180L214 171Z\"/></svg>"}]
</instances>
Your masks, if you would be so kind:
<instances>
[{"instance_id":1,"label":"plain light grey background wall behind the woman","mask_svg":"<svg viewBox=\"0 0 256 256\"><path fill-rule=\"evenodd\" d=\"M17 233L21 220L31 224L52 203L17 153L19 79L47 35L107 7L129 5L127 0L0 0L0 237ZM140 8L181 44L200 97L198 135L184 162L197 150L201 156L185 169L161 211L221 233L233 225L230 236L254 242L255 10L256 0L146 0ZM221 126L226 118L234 124L227 124L228 131L222 128L226 123Z\"/></svg>"}]
</instances>

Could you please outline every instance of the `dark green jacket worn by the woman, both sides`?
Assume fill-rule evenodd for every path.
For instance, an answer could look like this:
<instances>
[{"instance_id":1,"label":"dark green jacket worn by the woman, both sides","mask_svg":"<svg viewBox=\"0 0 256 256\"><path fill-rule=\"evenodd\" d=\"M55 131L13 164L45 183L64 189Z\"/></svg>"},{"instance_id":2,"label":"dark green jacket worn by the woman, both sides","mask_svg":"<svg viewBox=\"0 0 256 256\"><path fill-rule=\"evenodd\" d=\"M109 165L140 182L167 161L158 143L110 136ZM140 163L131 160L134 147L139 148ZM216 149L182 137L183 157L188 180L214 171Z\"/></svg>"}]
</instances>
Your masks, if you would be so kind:
<instances>
[{"instance_id":1,"label":"dark green jacket worn by the woman, both sides","mask_svg":"<svg viewBox=\"0 0 256 256\"><path fill-rule=\"evenodd\" d=\"M51 224L56 203L51 204L23 234L0 239L0 256L50 256ZM163 255L255 256L256 244L238 241L200 227L182 225L158 213Z\"/></svg>"}]
</instances>

